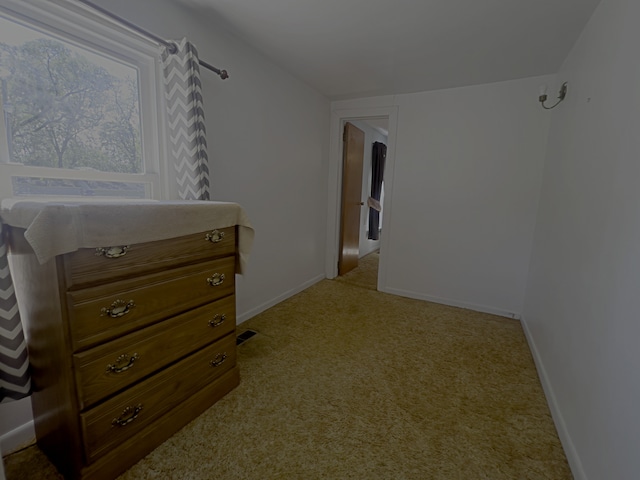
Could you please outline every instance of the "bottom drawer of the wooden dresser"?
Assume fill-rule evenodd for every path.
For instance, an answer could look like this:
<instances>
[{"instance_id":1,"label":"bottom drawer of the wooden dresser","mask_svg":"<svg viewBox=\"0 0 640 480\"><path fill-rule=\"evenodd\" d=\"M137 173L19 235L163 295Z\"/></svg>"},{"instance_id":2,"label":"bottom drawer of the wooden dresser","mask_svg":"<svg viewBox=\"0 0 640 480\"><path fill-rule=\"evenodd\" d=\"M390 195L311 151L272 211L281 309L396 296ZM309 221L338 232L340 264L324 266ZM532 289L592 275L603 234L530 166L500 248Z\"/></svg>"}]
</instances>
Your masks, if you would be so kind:
<instances>
[{"instance_id":1,"label":"bottom drawer of the wooden dresser","mask_svg":"<svg viewBox=\"0 0 640 480\"><path fill-rule=\"evenodd\" d=\"M80 415L87 460L96 460L235 366L235 336L205 347ZM226 358L225 358L226 354Z\"/></svg>"}]
</instances>

